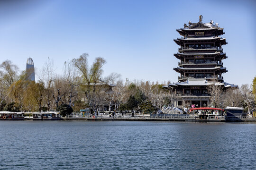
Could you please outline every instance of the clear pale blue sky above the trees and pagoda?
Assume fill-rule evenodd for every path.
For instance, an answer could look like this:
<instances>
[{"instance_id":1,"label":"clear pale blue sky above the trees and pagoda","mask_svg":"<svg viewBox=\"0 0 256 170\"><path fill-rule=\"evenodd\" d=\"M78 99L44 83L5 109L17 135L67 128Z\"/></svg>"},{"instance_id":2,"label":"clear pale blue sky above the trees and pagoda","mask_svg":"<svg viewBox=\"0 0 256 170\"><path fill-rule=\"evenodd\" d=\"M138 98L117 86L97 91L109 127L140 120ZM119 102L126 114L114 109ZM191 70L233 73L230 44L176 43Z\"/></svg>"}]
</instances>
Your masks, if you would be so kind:
<instances>
[{"instance_id":1,"label":"clear pale blue sky above the trees and pagoda","mask_svg":"<svg viewBox=\"0 0 256 170\"><path fill-rule=\"evenodd\" d=\"M218 22L228 83L251 84L256 76L256 3L253 0L4 0L0 1L0 62L20 70L28 57L38 72L47 58L56 74L82 53L107 60L104 75L176 82L176 29L188 21ZM37 73L36 73L37 74ZM36 76L37 79L37 76Z\"/></svg>"}]
</instances>

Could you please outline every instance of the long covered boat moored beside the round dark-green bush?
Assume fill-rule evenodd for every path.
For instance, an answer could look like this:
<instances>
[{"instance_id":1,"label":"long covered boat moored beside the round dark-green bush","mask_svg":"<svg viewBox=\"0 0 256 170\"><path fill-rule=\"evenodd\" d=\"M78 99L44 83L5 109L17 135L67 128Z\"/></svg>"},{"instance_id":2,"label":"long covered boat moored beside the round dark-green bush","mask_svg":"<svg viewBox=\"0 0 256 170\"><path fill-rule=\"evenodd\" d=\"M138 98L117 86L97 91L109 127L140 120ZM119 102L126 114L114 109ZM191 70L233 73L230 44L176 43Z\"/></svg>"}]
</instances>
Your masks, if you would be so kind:
<instances>
[{"instance_id":1,"label":"long covered boat moored beside the round dark-green bush","mask_svg":"<svg viewBox=\"0 0 256 170\"><path fill-rule=\"evenodd\" d=\"M57 112L35 112L33 113L33 120L60 120L61 115Z\"/></svg>"}]
</instances>

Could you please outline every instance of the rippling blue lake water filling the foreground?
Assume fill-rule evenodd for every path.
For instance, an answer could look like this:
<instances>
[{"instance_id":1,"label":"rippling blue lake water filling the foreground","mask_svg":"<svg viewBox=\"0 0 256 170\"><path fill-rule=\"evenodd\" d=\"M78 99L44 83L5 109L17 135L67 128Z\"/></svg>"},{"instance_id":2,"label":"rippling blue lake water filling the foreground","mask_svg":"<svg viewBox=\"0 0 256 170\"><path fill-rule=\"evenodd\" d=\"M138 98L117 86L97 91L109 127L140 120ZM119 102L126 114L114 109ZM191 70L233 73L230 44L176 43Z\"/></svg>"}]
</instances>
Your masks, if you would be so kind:
<instances>
[{"instance_id":1,"label":"rippling blue lake water filling the foreground","mask_svg":"<svg viewBox=\"0 0 256 170\"><path fill-rule=\"evenodd\" d=\"M0 170L256 169L256 123L0 121Z\"/></svg>"}]
</instances>

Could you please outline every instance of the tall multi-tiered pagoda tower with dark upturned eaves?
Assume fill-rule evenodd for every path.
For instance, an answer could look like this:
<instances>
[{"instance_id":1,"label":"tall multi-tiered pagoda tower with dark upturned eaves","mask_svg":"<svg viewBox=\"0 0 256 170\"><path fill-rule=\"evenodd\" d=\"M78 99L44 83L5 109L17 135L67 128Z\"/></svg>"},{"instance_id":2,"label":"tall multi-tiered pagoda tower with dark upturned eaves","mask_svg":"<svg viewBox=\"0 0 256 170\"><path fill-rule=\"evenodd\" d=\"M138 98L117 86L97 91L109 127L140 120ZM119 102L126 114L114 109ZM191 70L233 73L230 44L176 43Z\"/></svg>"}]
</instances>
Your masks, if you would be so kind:
<instances>
[{"instance_id":1,"label":"tall multi-tiered pagoda tower with dark upturned eaves","mask_svg":"<svg viewBox=\"0 0 256 170\"><path fill-rule=\"evenodd\" d=\"M213 83L230 87L224 82L223 73L228 70L223 67L223 59L227 59L222 45L227 44L225 34L218 23L202 22L202 16L198 23L189 21L183 28L177 29L182 38L174 39L180 48L174 56L180 60L174 70L180 73L178 82L164 86L174 90L174 106L208 107L210 94L207 93L207 85Z\"/></svg>"}]
</instances>

